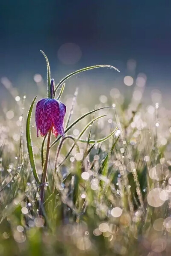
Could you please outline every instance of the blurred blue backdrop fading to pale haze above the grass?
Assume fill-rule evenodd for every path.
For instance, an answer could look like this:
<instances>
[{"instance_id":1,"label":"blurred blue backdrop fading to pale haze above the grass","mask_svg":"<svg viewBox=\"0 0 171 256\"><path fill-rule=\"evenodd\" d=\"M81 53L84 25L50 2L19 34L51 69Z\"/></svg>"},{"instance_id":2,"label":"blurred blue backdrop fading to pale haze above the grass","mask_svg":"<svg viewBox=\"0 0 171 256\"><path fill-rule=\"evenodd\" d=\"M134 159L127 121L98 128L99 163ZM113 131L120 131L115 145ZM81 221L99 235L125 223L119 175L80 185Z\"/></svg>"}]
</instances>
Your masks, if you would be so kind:
<instances>
[{"instance_id":1,"label":"blurred blue backdrop fading to pale haze above the grass","mask_svg":"<svg viewBox=\"0 0 171 256\"><path fill-rule=\"evenodd\" d=\"M139 83L146 86L144 101L151 100L155 89L169 107L170 14L171 2L165 0L0 1L0 100L9 97L2 86L6 81L21 95L31 98L37 93L36 84L46 81L41 49L56 83L90 65L109 64L121 71L97 69L79 74L67 82L69 92L79 86L82 93L86 88L89 94L108 96L117 88L131 95Z\"/></svg>"}]
</instances>

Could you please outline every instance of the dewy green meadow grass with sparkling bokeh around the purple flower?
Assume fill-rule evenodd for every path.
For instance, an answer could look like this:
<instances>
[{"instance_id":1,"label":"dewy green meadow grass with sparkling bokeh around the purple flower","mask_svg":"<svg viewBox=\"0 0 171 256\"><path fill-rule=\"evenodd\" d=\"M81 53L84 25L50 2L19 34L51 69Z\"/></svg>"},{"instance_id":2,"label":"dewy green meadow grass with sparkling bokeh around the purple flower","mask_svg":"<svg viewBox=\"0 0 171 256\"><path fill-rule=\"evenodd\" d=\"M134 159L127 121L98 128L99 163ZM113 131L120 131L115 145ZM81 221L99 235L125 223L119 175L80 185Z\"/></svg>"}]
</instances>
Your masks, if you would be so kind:
<instances>
[{"instance_id":1,"label":"dewy green meadow grass with sparkling bokeh around the purple flower","mask_svg":"<svg viewBox=\"0 0 171 256\"><path fill-rule=\"evenodd\" d=\"M141 104L143 79L127 102L117 89L94 109L77 104L88 97L77 90L65 100L65 138L51 136L43 205L37 99L27 116L31 102L1 81L14 107L3 104L0 116L0 255L171 255L171 111Z\"/></svg>"}]
</instances>

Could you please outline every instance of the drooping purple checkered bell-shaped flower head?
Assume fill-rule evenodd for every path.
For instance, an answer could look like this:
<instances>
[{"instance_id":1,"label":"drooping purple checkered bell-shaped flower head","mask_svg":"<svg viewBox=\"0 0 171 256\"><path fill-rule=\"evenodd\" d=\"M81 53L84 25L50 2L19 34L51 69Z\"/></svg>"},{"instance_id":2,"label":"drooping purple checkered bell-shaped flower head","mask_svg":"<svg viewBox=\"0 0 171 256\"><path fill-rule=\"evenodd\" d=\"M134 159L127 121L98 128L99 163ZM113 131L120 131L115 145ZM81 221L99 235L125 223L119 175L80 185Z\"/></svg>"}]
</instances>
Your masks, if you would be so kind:
<instances>
[{"instance_id":1,"label":"drooping purple checkered bell-shaped flower head","mask_svg":"<svg viewBox=\"0 0 171 256\"><path fill-rule=\"evenodd\" d=\"M53 93L54 80L51 80L51 95ZM38 101L35 109L35 123L41 136L45 136L49 130L55 137L60 134L64 137L64 116L66 113L66 106L62 102L54 98L43 98Z\"/></svg>"}]
</instances>

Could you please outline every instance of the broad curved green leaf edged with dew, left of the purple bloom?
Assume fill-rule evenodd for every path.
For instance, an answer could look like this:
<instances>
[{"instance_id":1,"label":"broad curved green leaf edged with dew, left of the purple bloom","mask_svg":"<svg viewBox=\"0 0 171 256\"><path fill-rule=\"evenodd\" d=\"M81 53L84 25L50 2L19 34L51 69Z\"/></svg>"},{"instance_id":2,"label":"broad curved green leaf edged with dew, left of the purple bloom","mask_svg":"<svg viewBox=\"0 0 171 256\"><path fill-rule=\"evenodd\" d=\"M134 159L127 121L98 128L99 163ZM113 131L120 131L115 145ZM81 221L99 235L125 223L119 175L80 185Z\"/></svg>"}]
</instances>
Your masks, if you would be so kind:
<instances>
[{"instance_id":1,"label":"broad curved green leaf edged with dew, left of the purple bloom","mask_svg":"<svg viewBox=\"0 0 171 256\"><path fill-rule=\"evenodd\" d=\"M30 165L32 168L32 173L33 173L36 183L40 184L38 175L37 175L36 166L35 166L34 153L33 153L33 149L32 149L32 138L31 138L31 131L30 131L30 120L31 120L31 116L32 116L32 108L35 104L36 98L37 98L37 96L35 96L35 98L33 99L32 104L29 108L28 115L27 115L26 140L27 140L27 150L28 150L28 154L29 154L29 162L30 162Z\"/></svg>"}]
</instances>

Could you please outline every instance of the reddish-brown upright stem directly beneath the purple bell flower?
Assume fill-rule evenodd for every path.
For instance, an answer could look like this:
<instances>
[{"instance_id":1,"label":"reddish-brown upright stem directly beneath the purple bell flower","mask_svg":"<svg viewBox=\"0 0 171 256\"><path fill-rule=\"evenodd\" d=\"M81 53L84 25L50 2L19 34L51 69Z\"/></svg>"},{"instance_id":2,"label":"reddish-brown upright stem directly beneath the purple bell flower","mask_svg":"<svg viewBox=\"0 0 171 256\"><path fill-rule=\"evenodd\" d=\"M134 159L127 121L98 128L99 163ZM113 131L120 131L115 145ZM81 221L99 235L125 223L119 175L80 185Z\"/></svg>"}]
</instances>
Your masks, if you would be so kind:
<instances>
[{"instance_id":1,"label":"reddish-brown upright stem directly beneath the purple bell flower","mask_svg":"<svg viewBox=\"0 0 171 256\"><path fill-rule=\"evenodd\" d=\"M42 215L42 206L43 206L43 201L44 201L44 185L45 185L46 176L47 176L47 166L48 166L49 149L50 149L50 137L51 137L51 130L48 132L46 157L45 157L45 161L44 161L44 165L43 165L43 173L42 173L42 179L41 179L40 204L39 204L39 210L38 210L39 215Z\"/></svg>"}]
</instances>

